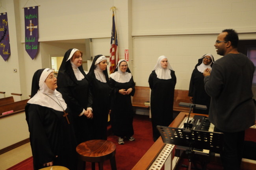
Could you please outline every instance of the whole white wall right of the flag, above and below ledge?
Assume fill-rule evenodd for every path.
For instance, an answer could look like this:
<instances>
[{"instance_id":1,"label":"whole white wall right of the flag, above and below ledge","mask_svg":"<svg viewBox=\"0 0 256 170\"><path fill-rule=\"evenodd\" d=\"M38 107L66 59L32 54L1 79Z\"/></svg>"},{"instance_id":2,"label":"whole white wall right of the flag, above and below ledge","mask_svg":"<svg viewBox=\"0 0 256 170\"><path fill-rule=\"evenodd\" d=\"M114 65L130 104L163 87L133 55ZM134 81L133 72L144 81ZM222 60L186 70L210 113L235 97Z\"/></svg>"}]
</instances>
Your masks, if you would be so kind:
<instances>
[{"instance_id":1,"label":"whole white wall right of the flag, above and below ledge","mask_svg":"<svg viewBox=\"0 0 256 170\"><path fill-rule=\"evenodd\" d=\"M175 89L189 89L198 58L210 53L221 30L233 28L240 39L256 39L255 0L139 0L132 3L134 79L148 86L157 58L166 55L176 73ZM252 17L254 16L254 17ZM242 34L244 33L244 34Z\"/></svg>"}]
</instances>

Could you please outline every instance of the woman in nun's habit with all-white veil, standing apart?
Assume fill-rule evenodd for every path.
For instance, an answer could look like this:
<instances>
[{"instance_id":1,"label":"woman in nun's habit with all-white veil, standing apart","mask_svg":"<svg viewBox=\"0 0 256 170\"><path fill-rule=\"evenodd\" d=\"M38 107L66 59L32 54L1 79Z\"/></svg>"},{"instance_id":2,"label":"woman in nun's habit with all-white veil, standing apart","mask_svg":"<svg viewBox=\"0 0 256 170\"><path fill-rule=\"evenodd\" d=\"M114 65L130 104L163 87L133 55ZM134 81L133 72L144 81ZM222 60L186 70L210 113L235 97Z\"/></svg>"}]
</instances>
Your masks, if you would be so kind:
<instances>
[{"instance_id":1,"label":"woman in nun's habit with all-white veil, standing apart","mask_svg":"<svg viewBox=\"0 0 256 170\"><path fill-rule=\"evenodd\" d=\"M173 98L176 85L175 72L165 55L158 57L148 78L151 89L150 109L152 116L153 140L160 137L156 126L169 126L173 121Z\"/></svg>"}]
</instances>

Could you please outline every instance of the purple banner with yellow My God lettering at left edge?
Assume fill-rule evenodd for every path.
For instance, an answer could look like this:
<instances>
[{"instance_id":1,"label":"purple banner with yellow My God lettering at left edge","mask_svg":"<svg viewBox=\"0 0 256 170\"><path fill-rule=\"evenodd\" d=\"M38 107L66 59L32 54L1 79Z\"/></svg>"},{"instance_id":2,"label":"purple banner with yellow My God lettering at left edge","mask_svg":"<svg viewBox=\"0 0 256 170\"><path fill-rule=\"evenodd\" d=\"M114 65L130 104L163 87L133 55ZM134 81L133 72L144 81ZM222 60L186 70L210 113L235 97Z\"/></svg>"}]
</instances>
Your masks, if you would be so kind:
<instances>
[{"instance_id":1,"label":"purple banner with yellow My God lettering at left edge","mask_svg":"<svg viewBox=\"0 0 256 170\"><path fill-rule=\"evenodd\" d=\"M6 61L11 55L7 13L0 14L0 55Z\"/></svg>"}]
</instances>

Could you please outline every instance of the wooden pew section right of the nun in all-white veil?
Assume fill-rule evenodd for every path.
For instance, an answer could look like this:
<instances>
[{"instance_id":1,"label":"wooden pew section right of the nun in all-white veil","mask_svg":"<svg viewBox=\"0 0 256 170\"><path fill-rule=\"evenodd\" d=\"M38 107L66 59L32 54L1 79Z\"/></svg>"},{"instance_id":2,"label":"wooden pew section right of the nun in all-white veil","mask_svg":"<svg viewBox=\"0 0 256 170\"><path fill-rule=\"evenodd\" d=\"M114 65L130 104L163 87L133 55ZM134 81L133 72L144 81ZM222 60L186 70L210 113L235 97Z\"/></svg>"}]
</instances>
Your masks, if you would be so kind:
<instances>
[{"instance_id":1,"label":"wooden pew section right of the nun in all-white veil","mask_svg":"<svg viewBox=\"0 0 256 170\"><path fill-rule=\"evenodd\" d=\"M180 102L184 103L192 103L189 100L188 91L187 90L174 90L174 101L173 101L173 111L174 112L189 112L189 107L179 106ZM192 111L191 111L192 113Z\"/></svg>"}]
</instances>

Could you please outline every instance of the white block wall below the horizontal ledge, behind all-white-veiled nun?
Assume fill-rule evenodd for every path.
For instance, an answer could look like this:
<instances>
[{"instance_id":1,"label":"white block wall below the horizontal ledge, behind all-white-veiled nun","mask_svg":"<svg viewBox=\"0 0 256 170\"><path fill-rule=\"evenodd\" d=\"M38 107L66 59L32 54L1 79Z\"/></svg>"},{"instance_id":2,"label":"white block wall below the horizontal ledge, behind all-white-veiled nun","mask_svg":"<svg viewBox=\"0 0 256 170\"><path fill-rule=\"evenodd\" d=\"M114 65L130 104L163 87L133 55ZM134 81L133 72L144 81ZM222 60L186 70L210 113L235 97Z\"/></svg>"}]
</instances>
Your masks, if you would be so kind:
<instances>
[{"instance_id":1,"label":"white block wall below the horizontal ledge, behind all-white-veiled nun","mask_svg":"<svg viewBox=\"0 0 256 170\"><path fill-rule=\"evenodd\" d=\"M166 55L175 71L175 89L188 90L191 73L204 54L212 54L217 35L175 35L134 38L134 81L138 86L149 86L148 77L160 55ZM240 39L256 39L256 34L240 35Z\"/></svg>"}]
</instances>

